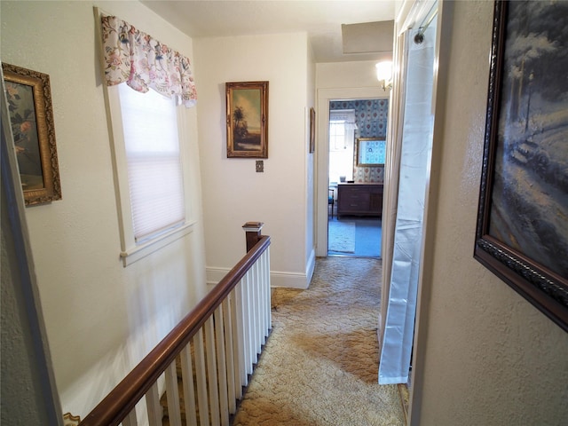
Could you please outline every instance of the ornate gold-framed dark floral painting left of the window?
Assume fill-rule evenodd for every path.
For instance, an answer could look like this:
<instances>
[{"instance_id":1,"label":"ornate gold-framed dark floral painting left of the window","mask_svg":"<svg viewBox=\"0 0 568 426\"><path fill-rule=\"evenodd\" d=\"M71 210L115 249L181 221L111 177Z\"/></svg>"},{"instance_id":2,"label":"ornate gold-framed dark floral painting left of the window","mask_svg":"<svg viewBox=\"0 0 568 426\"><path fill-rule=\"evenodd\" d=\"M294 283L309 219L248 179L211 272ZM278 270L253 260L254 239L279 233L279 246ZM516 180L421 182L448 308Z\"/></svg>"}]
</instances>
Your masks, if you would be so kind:
<instances>
[{"instance_id":1,"label":"ornate gold-framed dark floral painting left of the window","mask_svg":"<svg viewBox=\"0 0 568 426\"><path fill-rule=\"evenodd\" d=\"M50 77L5 63L2 70L26 206L60 200Z\"/></svg>"}]
</instances>

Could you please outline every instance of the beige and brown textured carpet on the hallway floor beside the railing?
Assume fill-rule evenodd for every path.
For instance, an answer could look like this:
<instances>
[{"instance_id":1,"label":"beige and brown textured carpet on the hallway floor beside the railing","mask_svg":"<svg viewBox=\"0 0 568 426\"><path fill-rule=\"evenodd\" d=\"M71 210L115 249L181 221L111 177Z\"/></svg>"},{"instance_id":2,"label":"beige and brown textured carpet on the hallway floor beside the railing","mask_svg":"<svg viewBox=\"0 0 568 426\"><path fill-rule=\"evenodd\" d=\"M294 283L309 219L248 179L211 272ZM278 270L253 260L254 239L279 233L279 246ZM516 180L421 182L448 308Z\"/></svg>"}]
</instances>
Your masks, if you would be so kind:
<instances>
[{"instance_id":1,"label":"beige and brown textured carpet on the hallway floor beside the railing","mask_svg":"<svg viewBox=\"0 0 568 426\"><path fill-rule=\"evenodd\" d=\"M381 261L319 258L307 290L272 292L272 335L234 425L403 425L377 383Z\"/></svg>"}]
</instances>

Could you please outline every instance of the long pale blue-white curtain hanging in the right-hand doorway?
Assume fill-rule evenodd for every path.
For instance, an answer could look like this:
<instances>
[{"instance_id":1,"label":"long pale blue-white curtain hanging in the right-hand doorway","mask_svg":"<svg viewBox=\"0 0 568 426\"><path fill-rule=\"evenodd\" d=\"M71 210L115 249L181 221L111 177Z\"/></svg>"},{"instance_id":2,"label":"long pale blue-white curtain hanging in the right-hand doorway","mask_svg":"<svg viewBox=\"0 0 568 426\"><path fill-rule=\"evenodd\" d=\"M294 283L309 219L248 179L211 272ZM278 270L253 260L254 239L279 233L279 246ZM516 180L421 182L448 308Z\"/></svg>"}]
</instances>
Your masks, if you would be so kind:
<instances>
[{"instance_id":1,"label":"long pale blue-white curtain hanging in the right-hand doorway","mask_svg":"<svg viewBox=\"0 0 568 426\"><path fill-rule=\"evenodd\" d=\"M383 319L383 339L379 364L379 383L407 383L414 338L416 295L422 248L422 222L426 185L430 169L433 116L431 114L433 60L436 24L432 22L422 43L414 43L418 28L405 36L407 61L405 90L398 130L399 170L396 209L387 211L396 216L394 241L389 263L390 282L386 318ZM395 157L398 155L396 150ZM391 159L395 168L395 159ZM396 180L396 179L395 179ZM389 273L389 272L387 272ZM385 300L385 299L383 299Z\"/></svg>"}]
</instances>

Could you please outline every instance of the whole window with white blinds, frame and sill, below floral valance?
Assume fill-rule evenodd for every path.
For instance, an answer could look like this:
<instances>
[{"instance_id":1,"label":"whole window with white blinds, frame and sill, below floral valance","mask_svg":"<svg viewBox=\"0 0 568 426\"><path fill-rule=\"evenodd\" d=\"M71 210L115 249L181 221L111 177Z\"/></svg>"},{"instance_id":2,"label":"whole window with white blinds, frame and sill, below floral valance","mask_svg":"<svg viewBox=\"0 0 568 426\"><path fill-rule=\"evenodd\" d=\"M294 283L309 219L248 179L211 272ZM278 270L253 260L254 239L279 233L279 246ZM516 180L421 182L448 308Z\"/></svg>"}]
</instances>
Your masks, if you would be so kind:
<instances>
[{"instance_id":1,"label":"whole window with white blinds, frame and sill, below floral valance","mask_svg":"<svg viewBox=\"0 0 568 426\"><path fill-rule=\"evenodd\" d=\"M106 93L126 266L191 232L180 142L185 107L125 83L107 87Z\"/></svg>"}]
</instances>

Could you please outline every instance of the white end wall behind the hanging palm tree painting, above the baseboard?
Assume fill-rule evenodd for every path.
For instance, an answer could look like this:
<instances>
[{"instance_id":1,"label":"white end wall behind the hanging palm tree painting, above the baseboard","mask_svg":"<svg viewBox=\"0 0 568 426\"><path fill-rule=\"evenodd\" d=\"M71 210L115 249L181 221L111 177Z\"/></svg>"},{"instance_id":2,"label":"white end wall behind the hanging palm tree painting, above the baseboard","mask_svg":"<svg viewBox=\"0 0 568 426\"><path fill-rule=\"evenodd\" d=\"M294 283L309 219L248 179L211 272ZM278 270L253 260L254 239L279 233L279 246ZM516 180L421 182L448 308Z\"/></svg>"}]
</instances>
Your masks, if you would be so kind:
<instances>
[{"instance_id":1,"label":"white end wall behind the hanging palm tree painting, above the baseboard","mask_svg":"<svg viewBox=\"0 0 568 426\"><path fill-rule=\"evenodd\" d=\"M305 288L307 35L194 40L208 281L245 253L241 225L264 222L273 286ZM268 81L268 158L226 157L225 83ZM312 232L311 230L309 232Z\"/></svg>"}]
</instances>

